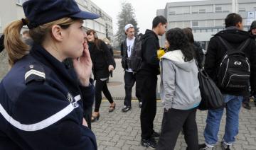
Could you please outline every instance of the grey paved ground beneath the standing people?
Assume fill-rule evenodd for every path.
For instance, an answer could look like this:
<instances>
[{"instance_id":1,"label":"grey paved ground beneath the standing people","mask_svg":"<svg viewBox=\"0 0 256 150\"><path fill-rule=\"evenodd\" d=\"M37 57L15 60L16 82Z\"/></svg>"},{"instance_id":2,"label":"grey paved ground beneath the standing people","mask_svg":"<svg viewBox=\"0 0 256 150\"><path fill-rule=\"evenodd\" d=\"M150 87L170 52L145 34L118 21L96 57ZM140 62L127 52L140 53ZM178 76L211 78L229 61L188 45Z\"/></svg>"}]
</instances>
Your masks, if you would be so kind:
<instances>
[{"instance_id":1,"label":"grey paved ground beneath the standing people","mask_svg":"<svg viewBox=\"0 0 256 150\"><path fill-rule=\"evenodd\" d=\"M116 149L146 149L139 144L140 141L140 109L137 100L132 102L132 110L127 113L122 113L122 100L116 100L117 109L113 113L108 113L109 103L104 100L100 108L100 120L92 123L92 130L97 137L97 144L99 150L116 150ZM252 104L251 104L252 105ZM198 137L199 142L203 143L203 129L206 126L206 111L199 111L196 115L198 123ZM159 132L161 129L163 110L161 103L157 103L157 113L154 120L154 129ZM225 116L225 115L224 115ZM174 122L175 123L175 122ZM225 117L220 125L220 132L218 134L219 142L223 137L225 127ZM252 110L245 110L242 108L240 112L240 130L235 142L234 149L256 149L256 107ZM175 149L186 149L186 143L183 136L178 137ZM216 146L220 149L220 143Z\"/></svg>"}]
</instances>

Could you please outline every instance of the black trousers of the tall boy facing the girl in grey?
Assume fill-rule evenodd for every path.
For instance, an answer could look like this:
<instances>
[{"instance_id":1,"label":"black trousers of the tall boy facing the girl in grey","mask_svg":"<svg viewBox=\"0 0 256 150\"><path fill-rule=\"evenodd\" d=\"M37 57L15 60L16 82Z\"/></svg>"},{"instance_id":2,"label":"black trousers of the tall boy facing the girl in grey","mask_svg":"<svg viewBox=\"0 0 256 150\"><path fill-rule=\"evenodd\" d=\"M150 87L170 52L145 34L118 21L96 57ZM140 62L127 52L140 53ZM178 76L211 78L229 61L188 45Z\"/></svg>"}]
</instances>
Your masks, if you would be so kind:
<instances>
[{"instance_id":1,"label":"black trousers of the tall boy facing the girl in grey","mask_svg":"<svg viewBox=\"0 0 256 150\"><path fill-rule=\"evenodd\" d=\"M142 139L149 139L154 132L154 118L156 116L156 84L157 76L146 76L141 71L137 73L137 86L142 97L141 128Z\"/></svg>"}]
</instances>

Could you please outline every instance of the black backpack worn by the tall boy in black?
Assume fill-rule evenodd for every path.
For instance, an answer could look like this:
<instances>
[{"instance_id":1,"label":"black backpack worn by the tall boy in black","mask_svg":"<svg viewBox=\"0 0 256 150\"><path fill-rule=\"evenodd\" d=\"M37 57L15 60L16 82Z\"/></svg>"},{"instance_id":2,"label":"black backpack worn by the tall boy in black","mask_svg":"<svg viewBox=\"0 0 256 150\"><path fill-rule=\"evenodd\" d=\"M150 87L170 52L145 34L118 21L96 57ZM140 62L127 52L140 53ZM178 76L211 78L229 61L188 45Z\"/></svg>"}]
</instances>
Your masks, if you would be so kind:
<instances>
[{"instance_id":1,"label":"black backpack worn by the tall boy in black","mask_svg":"<svg viewBox=\"0 0 256 150\"><path fill-rule=\"evenodd\" d=\"M142 69L142 42L142 35L136 37L134 49L132 50L131 56L128 58L128 68L132 69L133 72Z\"/></svg>"}]
</instances>

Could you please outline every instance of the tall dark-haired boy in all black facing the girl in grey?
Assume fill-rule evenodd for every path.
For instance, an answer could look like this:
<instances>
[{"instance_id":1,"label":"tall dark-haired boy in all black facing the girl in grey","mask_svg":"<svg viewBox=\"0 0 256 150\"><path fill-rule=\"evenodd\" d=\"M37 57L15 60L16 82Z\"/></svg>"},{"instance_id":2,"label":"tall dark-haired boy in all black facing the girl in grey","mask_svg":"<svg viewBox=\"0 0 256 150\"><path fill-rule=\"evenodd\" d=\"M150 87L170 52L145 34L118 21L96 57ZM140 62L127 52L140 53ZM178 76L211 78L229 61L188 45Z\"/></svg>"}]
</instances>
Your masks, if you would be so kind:
<instances>
[{"instance_id":1,"label":"tall dark-haired boy in all black facing the girl in grey","mask_svg":"<svg viewBox=\"0 0 256 150\"><path fill-rule=\"evenodd\" d=\"M142 96L142 109L140 115L142 128L142 146L156 148L155 138L159 133L154 131L154 117L156 116L156 85L157 75L160 74L158 35L166 32L167 20L164 16L156 16L152 23L152 30L147 29L142 36L141 67L136 74L137 86Z\"/></svg>"}]
</instances>

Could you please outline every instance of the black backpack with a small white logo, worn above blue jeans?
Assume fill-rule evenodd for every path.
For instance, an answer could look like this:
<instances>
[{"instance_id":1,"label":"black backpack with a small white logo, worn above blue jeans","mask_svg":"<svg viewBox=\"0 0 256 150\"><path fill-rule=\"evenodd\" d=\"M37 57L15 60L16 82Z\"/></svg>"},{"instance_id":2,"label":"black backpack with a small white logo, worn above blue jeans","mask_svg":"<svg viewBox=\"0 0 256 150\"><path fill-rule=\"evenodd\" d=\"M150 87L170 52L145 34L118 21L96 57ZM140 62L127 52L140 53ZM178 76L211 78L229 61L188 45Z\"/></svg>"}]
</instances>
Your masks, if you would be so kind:
<instances>
[{"instance_id":1,"label":"black backpack with a small white logo, worn above blue jeans","mask_svg":"<svg viewBox=\"0 0 256 150\"><path fill-rule=\"evenodd\" d=\"M237 49L222 37L218 38L227 50L218 70L218 86L225 91L245 90L250 81L250 62L243 50L250 42L250 38L242 42Z\"/></svg>"}]
</instances>

